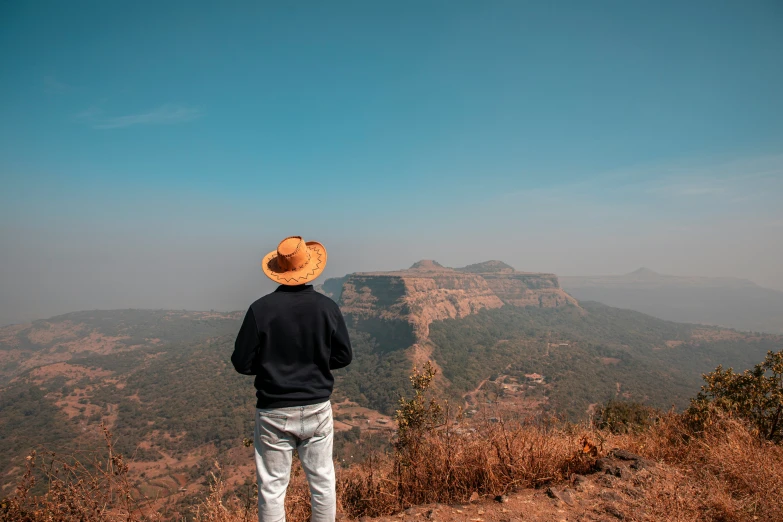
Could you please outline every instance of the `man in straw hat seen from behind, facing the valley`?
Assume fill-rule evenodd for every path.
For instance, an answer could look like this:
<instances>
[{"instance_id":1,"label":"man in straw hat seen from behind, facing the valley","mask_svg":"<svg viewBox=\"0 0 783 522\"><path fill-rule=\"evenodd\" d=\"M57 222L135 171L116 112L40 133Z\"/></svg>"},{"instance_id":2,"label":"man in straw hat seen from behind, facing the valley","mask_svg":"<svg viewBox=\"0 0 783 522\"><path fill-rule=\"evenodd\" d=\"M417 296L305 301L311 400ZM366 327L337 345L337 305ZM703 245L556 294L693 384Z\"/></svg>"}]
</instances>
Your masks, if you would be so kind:
<instances>
[{"instance_id":1,"label":"man in straw hat seen from behind, facing the valley","mask_svg":"<svg viewBox=\"0 0 783 522\"><path fill-rule=\"evenodd\" d=\"M310 484L313 522L332 522L332 370L351 362L348 330L337 304L307 283L321 275L326 249L288 237L264 257L264 273L280 284L250 305L231 362L255 375L258 520L285 520L285 492L294 449Z\"/></svg>"}]
</instances>

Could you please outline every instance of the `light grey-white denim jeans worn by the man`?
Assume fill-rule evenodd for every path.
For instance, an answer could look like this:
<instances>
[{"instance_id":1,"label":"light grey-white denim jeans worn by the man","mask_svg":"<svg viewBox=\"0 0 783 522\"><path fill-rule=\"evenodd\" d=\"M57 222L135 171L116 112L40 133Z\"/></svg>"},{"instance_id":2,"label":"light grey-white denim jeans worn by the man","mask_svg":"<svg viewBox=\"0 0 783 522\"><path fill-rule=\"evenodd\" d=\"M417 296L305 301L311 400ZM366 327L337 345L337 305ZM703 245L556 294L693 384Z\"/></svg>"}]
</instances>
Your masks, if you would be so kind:
<instances>
[{"instance_id":1,"label":"light grey-white denim jeans worn by the man","mask_svg":"<svg viewBox=\"0 0 783 522\"><path fill-rule=\"evenodd\" d=\"M258 520L285 520L285 492L294 449L310 484L312 522L333 522L337 498L332 443L334 422L329 401L290 408L256 408Z\"/></svg>"}]
</instances>

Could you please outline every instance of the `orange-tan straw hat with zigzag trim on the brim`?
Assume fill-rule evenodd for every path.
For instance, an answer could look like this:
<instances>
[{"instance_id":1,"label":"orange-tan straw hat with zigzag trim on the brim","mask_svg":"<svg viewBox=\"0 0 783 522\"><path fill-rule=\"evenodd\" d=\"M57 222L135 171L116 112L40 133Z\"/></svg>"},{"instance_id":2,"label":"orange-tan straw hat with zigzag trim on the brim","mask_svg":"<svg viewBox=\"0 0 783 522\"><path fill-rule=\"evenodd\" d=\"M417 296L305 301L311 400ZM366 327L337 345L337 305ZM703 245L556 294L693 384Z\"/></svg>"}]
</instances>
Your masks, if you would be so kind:
<instances>
[{"instance_id":1,"label":"orange-tan straw hat with zigzag trim on the brim","mask_svg":"<svg viewBox=\"0 0 783 522\"><path fill-rule=\"evenodd\" d=\"M261 268L266 276L281 285L303 285L324 271L326 249L317 241L305 243L301 236L287 237L264 256Z\"/></svg>"}]
</instances>

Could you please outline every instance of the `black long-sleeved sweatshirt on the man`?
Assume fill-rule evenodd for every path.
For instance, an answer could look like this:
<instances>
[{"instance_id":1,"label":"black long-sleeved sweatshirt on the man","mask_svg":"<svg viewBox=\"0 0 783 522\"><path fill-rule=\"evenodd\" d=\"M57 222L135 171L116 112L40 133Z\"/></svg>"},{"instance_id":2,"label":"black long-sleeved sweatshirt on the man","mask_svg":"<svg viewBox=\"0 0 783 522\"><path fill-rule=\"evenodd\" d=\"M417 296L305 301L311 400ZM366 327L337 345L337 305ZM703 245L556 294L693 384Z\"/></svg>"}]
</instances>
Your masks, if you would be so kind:
<instances>
[{"instance_id":1,"label":"black long-sleeved sweatshirt on the man","mask_svg":"<svg viewBox=\"0 0 783 522\"><path fill-rule=\"evenodd\" d=\"M285 408L328 400L331 370L352 357L337 303L312 285L283 285L250 305L231 362L256 376L256 407Z\"/></svg>"}]
</instances>

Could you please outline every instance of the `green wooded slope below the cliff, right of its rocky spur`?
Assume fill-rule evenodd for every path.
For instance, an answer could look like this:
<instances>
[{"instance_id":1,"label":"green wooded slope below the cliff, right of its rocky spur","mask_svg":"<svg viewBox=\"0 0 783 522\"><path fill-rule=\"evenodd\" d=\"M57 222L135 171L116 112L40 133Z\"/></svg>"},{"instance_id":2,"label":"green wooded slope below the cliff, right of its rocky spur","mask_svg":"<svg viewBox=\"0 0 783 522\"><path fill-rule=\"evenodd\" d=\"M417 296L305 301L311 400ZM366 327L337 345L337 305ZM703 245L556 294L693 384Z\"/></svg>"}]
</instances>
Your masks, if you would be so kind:
<instances>
[{"instance_id":1,"label":"green wooded slope below the cliff, right of its rocky spur","mask_svg":"<svg viewBox=\"0 0 783 522\"><path fill-rule=\"evenodd\" d=\"M685 407L701 374L724 362L748 368L781 346L754 336L661 321L598 303L557 309L506 306L430 327L433 358L460 396L503 374L544 378L546 409L584 417L590 404L619 397ZM537 392L538 393L538 392Z\"/></svg>"}]
</instances>

